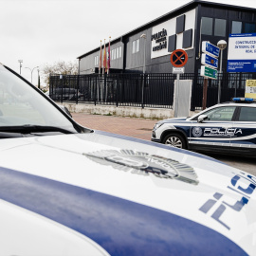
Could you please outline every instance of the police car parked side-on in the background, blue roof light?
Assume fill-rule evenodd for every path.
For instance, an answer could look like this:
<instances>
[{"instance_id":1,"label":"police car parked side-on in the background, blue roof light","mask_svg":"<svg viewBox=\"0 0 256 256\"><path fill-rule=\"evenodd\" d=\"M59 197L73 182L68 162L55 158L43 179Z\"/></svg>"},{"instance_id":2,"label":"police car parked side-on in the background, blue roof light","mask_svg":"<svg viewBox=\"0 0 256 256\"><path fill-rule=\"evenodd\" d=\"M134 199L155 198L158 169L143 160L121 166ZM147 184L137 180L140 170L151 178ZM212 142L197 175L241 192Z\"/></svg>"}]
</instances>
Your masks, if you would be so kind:
<instances>
[{"instance_id":1,"label":"police car parked side-on in the background, blue roof light","mask_svg":"<svg viewBox=\"0 0 256 256\"><path fill-rule=\"evenodd\" d=\"M152 140L182 149L255 156L256 102L234 98L192 118L158 121Z\"/></svg>"}]
</instances>

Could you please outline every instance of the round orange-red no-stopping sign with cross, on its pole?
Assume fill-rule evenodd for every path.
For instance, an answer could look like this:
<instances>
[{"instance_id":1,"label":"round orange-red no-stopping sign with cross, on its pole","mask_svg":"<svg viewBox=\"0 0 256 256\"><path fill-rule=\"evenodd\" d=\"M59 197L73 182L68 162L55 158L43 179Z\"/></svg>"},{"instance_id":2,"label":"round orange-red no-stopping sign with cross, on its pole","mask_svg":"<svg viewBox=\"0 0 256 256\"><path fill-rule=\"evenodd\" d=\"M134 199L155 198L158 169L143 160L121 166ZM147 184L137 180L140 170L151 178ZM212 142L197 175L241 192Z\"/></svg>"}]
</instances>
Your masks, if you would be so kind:
<instances>
[{"instance_id":1,"label":"round orange-red no-stopping sign with cross, on its pole","mask_svg":"<svg viewBox=\"0 0 256 256\"><path fill-rule=\"evenodd\" d=\"M171 54L171 63L174 65L173 68L173 73L177 74L177 79L176 79L176 86L175 86L175 105L174 105L174 118L177 118L177 113L178 113L178 87L179 87L179 74L184 73L184 69L179 70L175 68L180 68L184 66L188 62L188 54L185 50L183 49L176 49L173 51ZM176 72L175 72L176 71Z\"/></svg>"}]
</instances>

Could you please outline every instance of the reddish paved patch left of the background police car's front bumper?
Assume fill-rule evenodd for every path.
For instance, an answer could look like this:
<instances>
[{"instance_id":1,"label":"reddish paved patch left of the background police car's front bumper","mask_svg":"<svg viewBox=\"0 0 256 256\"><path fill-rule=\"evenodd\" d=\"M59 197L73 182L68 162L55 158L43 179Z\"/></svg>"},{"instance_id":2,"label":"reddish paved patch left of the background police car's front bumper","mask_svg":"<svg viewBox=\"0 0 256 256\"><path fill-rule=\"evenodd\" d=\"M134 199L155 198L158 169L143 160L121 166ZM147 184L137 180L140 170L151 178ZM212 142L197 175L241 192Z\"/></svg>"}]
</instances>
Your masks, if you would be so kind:
<instances>
[{"instance_id":1,"label":"reddish paved patch left of the background police car's front bumper","mask_svg":"<svg viewBox=\"0 0 256 256\"><path fill-rule=\"evenodd\" d=\"M152 129L157 122L157 120L150 119L119 118L86 113L72 113L72 117L82 126L91 129L146 140L151 139Z\"/></svg>"}]
</instances>

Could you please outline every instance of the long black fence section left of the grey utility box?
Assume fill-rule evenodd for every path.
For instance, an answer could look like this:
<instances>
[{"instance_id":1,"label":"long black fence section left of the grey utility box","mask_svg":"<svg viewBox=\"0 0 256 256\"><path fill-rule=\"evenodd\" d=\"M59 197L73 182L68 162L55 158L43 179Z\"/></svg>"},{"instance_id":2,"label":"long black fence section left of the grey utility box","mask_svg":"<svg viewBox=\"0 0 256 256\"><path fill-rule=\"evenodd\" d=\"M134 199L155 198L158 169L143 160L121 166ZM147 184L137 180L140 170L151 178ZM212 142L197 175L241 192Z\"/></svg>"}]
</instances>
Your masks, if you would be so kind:
<instances>
[{"instance_id":1,"label":"long black fence section left of the grey utility box","mask_svg":"<svg viewBox=\"0 0 256 256\"><path fill-rule=\"evenodd\" d=\"M50 77L54 101L172 108L173 74L110 74Z\"/></svg>"}]
</instances>

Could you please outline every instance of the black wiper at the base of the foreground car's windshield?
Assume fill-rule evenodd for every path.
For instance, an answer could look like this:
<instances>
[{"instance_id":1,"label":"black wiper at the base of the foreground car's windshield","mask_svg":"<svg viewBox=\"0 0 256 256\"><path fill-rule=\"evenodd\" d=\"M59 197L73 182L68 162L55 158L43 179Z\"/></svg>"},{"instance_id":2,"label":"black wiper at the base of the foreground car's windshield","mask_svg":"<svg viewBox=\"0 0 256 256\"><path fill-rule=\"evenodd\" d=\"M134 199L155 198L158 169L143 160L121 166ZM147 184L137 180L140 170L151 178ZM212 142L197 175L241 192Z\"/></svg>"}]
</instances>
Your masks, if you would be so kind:
<instances>
[{"instance_id":1,"label":"black wiper at the base of the foreground car's windshield","mask_svg":"<svg viewBox=\"0 0 256 256\"><path fill-rule=\"evenodd\" d=\"M22 135L28 135L28 134L37 134L37 133L50 133L50 132L58 132L62 134L74 134L74 132L65 130L61 127L56 126L44 126L44 125L20 125L20 126L2 126L0 127L0 133L2 134L22 134ZM0 135L1 137L1 135ZM17 136L19 137L19 136Z\"/></svg>"}]
</instances>

